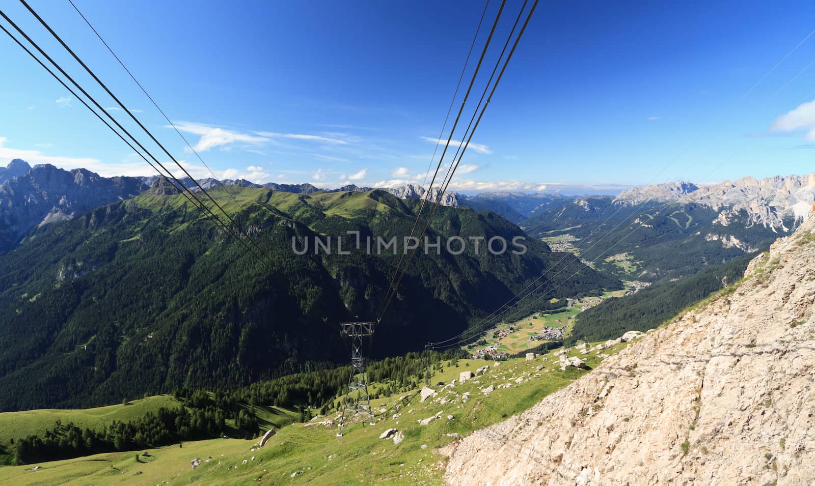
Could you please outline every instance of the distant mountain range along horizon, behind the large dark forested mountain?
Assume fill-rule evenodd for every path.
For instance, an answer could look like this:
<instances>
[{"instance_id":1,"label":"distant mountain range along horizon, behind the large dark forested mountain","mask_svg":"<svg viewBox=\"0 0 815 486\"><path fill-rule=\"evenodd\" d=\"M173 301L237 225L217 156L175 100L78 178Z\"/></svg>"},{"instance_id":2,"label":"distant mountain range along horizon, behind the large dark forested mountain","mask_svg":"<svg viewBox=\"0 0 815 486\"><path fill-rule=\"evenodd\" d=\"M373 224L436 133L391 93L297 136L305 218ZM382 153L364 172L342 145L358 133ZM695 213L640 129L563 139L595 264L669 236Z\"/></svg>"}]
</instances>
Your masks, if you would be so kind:
<instances>
[{"instance_id":1,"label":"distant mountain range along horizon, behind the large dark forested mountain","mask_svg":"<svg viewBox=\"0 0 815 486\"><path fill-rule=\"evenodd\" d=\"M100 177L85 169L67 171L48 164L32 168L23 160L12 160L0 171L0 180L3 177L0 252L14 248L37 227L130 199L156 181L156 177ZM182 182L197 190L192 180ZM324 190L307 183L256 184L242 179L198 182L205 189L230 194L242 188L297 195L372 190L354 185ZM384 190L406 201L425 196L425 188L418 185ZM438 189L431 200L436 197ZM635 187L616 196L447 193L442 204L494 212L521 225L527 234L574 252L619 278L659 281L766 247L800 225L813 201L815 174L760 181L742 177L707 186L669 182Z\"/></svg>"}]
</instances>

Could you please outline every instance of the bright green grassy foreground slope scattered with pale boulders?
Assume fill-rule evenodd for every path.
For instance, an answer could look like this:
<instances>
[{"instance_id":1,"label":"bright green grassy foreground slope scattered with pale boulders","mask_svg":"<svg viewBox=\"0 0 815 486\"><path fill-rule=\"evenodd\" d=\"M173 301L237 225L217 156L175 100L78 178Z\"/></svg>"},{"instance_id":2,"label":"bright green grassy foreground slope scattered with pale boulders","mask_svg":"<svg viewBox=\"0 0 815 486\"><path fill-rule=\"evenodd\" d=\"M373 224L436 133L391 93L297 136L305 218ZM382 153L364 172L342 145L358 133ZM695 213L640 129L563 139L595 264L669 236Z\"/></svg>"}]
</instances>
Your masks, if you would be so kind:
<instances>
[{"instance_id":1,"label":"bright green grassy foreground slope scattered with pale boulders","mask_svg":"<svg viewBox=\"0 0 815 486\"><path fill-rule=\"evenodd\" d=\"M570 349L567 356L593 367L602 354L624 345L585 354ZM466 359L457 364L443 362L434 370L430 382L437 393L424 403L417 391L380 398L372 403L381 412L377 424L354 424L341 438L336 427L325 427L319 423L324 418L316 418L307 426L285 427L255 451L256 440L201 440L181 448L149 449L150 457L140 458L143 462L137 462L135 453L105 453L2 467L0 484L443 484L443 456L437 449L527 409L588 372L561 370L554 353L532 361ZM485 374L457 383L461 371L487 365L491 368ZM453 379L456 383L450 385ZM493 387L491 392L482 392L488 387ZM411 397L409 403L399 401L403 396ZM437 415L427 425L418 423ZM403 432L400 444L379 438L391 427ZM193 469L190 462L195 458L205 462ZM32 471L33 466L40 467Z\"/></svg>"}]
</instances>

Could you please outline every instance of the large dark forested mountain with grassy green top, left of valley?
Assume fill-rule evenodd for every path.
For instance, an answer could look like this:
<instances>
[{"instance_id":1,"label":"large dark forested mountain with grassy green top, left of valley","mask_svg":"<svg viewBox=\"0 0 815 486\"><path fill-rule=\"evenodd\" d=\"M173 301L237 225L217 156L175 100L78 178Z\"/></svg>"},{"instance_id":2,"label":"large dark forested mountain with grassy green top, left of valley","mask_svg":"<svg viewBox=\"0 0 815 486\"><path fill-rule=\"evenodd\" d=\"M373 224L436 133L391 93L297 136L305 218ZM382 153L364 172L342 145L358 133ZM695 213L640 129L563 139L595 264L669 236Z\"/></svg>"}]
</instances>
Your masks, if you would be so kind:
<instances>
[{"instance_id":1,"label":"large dark forested mountain with grassy green top, left of valley","mask_svg":"<svg viewBox=\"0 0 815 486\"><path fill-rule=\"evenodd\" d=\"M345 361L333 324L375 317L399 256L297 256L292 237L359 230L363 239L401 239L417 202L380 190L228 190L231 196L212 193L273 271L182 195L158 190L43 225L0 256L0 409L100 405L180 386L237 387L300 370L306 361ZM430 239L452 235L511 240L523 232L493 213L440 208ZM417 256L373 356L461 331L553 265L570 265L564 275L583 266L534 239L526 244L521 256L483 248L476 255L472 247L459 256ZM620 288L593 269L555 289L558 283L541 291L578 296Z\"/></svg>"}]
</instances>

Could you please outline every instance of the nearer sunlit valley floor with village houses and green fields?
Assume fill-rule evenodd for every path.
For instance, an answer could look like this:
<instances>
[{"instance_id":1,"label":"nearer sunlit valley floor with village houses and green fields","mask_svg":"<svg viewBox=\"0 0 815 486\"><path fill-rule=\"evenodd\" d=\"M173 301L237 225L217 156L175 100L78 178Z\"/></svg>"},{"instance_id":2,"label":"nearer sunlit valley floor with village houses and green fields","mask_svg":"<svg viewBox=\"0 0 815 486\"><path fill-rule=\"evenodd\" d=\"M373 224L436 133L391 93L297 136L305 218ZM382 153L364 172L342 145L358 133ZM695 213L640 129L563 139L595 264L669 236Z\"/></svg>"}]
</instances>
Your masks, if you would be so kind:
<instances>
[{"instance_id":1,"label":"nearer sunlit valley floor with village houses and green fields","mask_svg":"<svg viewBox=\"0 0 815 486\"><path fill-rule=\"evenodd\" d=\"M544 342L560 341L571 331L579 313L592 309L610 297L630 296L650 286L650 282L623 283L625 288L620 291L607 291L602 296L566 299L562 308L532 313L518 321L500 322L485 331L474 344L467 345L466 350L475 359L503 361ZM552 304L557 302L557 299L550 300Z\"/></svg>"}]
</instances>

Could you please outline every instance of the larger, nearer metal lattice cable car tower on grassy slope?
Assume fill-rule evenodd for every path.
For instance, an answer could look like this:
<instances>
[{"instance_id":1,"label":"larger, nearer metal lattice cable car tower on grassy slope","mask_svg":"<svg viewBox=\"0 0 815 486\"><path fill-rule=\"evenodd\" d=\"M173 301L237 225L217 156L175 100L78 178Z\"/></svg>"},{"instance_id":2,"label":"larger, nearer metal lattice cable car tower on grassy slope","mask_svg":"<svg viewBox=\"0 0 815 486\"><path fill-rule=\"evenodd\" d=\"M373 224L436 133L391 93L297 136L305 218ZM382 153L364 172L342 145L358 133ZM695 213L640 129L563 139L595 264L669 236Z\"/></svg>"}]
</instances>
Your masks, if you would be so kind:
<instances>
[{"instance_id":1,"label":"larger, nearer metal lattice cable car tower on grassy slope","mask_svg":"<svg viewBox=\"0 0 815 486\"><path fill-rule=\"evenodd\" d=\"M373 335L377 322L340 322L340 334L349 338L351 342L351 373L348 377L346 396L342 400L342 416L337 437L342 436L343 427L352 423L357 415L364 415L364 420L369 420L373 425L374 416L371 399L368 396L368 380L365 379L362 345L363 338ZM356 401L351 398L351 392L357 392Z\"/></svg>"}]
</instances>

